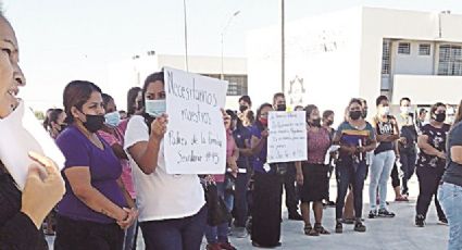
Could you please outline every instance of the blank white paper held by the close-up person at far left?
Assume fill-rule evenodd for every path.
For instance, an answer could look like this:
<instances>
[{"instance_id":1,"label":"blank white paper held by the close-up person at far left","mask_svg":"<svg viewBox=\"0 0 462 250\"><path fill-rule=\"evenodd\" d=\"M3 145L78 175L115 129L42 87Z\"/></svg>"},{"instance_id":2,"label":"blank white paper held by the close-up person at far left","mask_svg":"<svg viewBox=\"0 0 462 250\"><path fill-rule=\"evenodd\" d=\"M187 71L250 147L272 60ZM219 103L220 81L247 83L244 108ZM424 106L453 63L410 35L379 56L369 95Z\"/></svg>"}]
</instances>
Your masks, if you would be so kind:
<instances>
[{"instance_id":1,"label":"blank white paper held by the close-up person at far left","mask_svg":"<svg viewBox=\"0 0 462 250\"><path fill-rule=\"evenodd\" d=\"M0 118L0 160L21 190L24 189L28 167L33 163L29 151L50 158L60 171L64 167L63 153L33 111L21 101L10 115Z\"/></svg>"}]
</instances>

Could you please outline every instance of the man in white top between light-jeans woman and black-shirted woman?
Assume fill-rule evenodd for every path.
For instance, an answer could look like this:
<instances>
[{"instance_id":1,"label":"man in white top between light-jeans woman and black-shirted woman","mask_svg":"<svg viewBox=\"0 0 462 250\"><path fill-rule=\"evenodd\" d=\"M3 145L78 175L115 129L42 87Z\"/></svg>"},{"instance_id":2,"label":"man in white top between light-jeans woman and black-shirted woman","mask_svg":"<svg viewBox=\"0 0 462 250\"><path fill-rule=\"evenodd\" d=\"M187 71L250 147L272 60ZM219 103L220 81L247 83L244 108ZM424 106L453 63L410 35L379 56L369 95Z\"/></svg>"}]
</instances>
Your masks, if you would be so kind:
<instances>
[{"instance_id":1,"label":"man in white top between light-jeans woman and black-shirted woman","mask_svg":"<svg viewBox=\"0 0 462 250\"><path fill-rule=\"evenodd\" d=\"M401 137L398 140L402 175L401 195L409 197L408 182L415 171L417 130L414 124L414 113L411 99L404 97L400 100L400 114L397 116Z\"/></svg>"}]
</instances>

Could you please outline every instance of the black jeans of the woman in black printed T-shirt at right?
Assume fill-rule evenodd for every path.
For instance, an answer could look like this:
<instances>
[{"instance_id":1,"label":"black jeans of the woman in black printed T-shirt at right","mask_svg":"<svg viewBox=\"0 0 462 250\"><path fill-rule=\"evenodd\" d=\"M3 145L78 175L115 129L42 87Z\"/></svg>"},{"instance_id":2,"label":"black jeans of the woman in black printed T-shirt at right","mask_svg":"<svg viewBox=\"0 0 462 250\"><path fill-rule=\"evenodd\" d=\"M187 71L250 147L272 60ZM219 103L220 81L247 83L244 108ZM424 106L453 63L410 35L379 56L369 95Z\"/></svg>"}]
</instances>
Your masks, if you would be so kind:
<instances>
[{"instance_id":1,"label":"black jeans of the woman in black printed T-shirt at right","mask_svg":"<svg viewBox=\"0 0 462 250\"><path fill-rule=\"evenodd\" d=\"M419 198L416 204L417 215L426 217L428 207L432 203L432 198L435 196L435 207L438 214L438 218L446 218L445 212L438 201L438 186L441 182L442 174L445 173L444 166L430 167L430 166L419 166Z\"/></svg>"}]
</instances>

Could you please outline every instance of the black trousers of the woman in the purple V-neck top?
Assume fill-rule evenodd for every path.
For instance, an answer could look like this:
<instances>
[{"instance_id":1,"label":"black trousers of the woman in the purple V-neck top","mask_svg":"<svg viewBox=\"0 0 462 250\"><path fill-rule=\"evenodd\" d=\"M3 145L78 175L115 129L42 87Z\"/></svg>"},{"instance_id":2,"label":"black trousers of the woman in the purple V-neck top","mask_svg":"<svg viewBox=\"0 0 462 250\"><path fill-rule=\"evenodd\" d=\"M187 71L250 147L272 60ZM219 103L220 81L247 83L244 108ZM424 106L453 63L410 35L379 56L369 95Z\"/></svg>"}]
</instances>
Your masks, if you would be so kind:
<instances>
[{"instance_id":1,"label":"black trousers of the woman in the purple V-neck top","mask_svg":"<svg viewBox=\"0 0 462 250\"><path fill-rule=\"evenodd\" d=\"M55 250L122 250L124 230L115 224L75 221L64 216L57 218Z\"/></svg>"}]
</instances>

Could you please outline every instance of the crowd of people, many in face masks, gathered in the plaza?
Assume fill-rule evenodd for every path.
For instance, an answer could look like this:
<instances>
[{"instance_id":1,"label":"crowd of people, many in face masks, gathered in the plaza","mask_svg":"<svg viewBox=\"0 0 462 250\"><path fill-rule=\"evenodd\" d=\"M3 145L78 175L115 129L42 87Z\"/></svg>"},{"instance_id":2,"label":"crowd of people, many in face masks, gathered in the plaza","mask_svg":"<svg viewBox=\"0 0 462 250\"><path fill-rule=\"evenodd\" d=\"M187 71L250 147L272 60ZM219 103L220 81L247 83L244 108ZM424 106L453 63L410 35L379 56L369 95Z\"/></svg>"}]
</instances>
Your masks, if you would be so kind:
<instances>
[{"instance_id":1,"label":"crowd of people, many in face masks, gathered in the plaza","mask_svg":"<svg viewBox=\"0 0 462 250\"><path fill-rule=\"evenodd\" d=\"M14 30L2 16L0 36L4 118L18 105L16 95L25 78ZM285 96L275 93L272 103L261 104L255 113L250 97L242 96L238 111L222 111L223 175L198 176L166 172L163 137L168 114L162 72L149 75L142 88L129 89L127 112L115 101L93 83L71 82L63 91L63 109L50 109L43 121L65 157L64 170L59 173L50 159L32 152L35 163L21 192L0 162L0 249L48 249L43 222L45 234L55 235L57 250L136 249L138 228L146 249L197 250L205 237L208 250L233 250L228 237L248 235L254 247L274 248L282 246L283 193L288 218L303 222L300 234L329 235L323 226L328 205L336 211L335 233L341 234L345 224L364 233L367 177L367 217L391 218L389 179L396 200L408 201L414 172L420 186L415 225L425 226L434 199L439 223L450 226L449 249L462 249L462 103L457 112L435 103L426 122L427 111L414 112L409 98L400 100L396 116L385 96L376 98L373 115L365 99L352 98L336 129L333 111L296 107L305 112L308 159L269 164L269 113L288 111ZM329 192L333 176L335 202ZM230 220L209 223L203 183L216 185L215 195Z\"/></svg>"}]
</instances>

